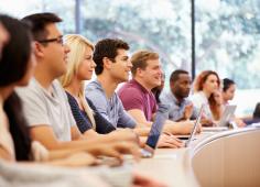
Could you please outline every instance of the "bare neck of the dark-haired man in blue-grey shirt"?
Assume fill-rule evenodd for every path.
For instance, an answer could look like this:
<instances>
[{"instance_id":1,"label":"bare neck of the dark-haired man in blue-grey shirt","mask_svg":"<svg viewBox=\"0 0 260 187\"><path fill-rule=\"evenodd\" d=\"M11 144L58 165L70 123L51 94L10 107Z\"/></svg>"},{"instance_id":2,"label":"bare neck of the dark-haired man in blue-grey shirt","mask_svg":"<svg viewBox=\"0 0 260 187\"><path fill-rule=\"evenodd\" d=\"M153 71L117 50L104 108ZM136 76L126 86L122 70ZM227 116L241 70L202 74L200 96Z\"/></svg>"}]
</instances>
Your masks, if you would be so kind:
<instances>
[{"instance_id":1,"label":"bare neck of the dark-haired man in blue-grey shirt","mask_svg":"<svg viewBox=\"0 0 260 187\"><path fill-rule=\"evenodd\" d=\"M117 86L120 82L113 80L110 76L106 76L104 74L97 76L97 79L101 84L102 89L105 90L107 98L110 99L112 97L112 95L115 94L115 90L116 90Z\"/></svg>"}]
</instances>

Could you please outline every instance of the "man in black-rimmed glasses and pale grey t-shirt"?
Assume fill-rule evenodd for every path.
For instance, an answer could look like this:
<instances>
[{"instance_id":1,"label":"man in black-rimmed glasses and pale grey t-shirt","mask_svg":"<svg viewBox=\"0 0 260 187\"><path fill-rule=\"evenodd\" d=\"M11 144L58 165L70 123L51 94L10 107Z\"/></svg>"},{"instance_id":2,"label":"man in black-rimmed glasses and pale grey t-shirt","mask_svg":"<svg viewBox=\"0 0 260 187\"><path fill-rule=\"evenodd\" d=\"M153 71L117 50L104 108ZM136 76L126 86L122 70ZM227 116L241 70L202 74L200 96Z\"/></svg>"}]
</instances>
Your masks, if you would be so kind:
<instances>
[{"instance_id":1,"label":"man in black-rimmed glasses and pale grey t-shirt","mask_svg":"<svg viewBox=\"0 0 260 187\"><path fill-rule=\"evenodd\" d=\"M56 79L66 73L69 52L56 26L62 20L53 13L36 13L23 20L32 24L37 62L29 86L17 89L31 138L47 150L74 148L87 151L94 156L105 154L118 158L121 158L121 152L130 152L138 157L138 145L132 141L104 144L99 139L86 139L78 131L66 94Z\"/></svg>"}]
</instances>

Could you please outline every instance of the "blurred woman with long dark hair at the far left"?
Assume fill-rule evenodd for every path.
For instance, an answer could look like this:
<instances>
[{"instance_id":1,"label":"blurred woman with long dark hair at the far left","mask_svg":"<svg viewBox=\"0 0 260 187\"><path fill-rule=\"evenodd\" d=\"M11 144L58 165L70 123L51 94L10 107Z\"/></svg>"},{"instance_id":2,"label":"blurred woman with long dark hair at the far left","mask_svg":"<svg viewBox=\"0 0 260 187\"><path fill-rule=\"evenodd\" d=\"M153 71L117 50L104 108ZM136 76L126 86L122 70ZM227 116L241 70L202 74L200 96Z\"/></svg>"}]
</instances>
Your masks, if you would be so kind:
<instances>
[{"instance_id":1,"label":"blurred woman with long dark hair at the far left","mask_svg":"<svg viewBox=\"0 0 260 187\"><path fill-rule=\"evenodd\" d=\"M69 151L48 152L39 142L31 141L21 101L13 91L17 86L26 86L33 75L35 59L30 29L8 15L0 14L0 21L10 34L0 59L0 157L7 161L48 161L71 155ZM90 155L82 160L89 158L91 163L94 158ZM69 165L59 161L53 164Z\"/></svg>"}]
</instances>

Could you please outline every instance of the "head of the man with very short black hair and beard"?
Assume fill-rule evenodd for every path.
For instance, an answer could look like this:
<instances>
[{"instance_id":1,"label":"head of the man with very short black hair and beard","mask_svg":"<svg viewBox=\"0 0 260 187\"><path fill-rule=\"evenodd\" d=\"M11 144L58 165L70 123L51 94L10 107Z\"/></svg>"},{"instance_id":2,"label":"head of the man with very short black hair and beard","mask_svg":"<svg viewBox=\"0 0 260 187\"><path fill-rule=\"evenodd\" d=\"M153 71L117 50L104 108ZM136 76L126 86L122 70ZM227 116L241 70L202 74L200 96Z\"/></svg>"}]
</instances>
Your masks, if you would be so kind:
<instances>
[{"instance_id":1,"label":"head of the man with very short black hair and beard","mask_svg":"<svg viewBox=\"0 0 260 187\"><path fill-rule=\"evenodd\" d=\"M184 99L188 97L191 91L192 78L188 72L183 69L174 70L170 77L170 87L172 94L178 98Z\"/></svg>"}]
</instances>

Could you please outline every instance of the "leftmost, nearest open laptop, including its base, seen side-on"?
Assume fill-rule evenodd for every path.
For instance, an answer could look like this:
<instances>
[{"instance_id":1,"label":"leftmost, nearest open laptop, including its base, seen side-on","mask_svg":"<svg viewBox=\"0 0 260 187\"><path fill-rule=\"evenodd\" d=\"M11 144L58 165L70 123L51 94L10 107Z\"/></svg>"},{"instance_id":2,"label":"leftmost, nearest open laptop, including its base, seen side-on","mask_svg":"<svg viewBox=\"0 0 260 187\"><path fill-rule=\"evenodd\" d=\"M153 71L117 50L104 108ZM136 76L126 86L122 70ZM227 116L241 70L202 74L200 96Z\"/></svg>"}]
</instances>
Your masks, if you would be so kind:
<instances>
[{"instance_id":1,"label":"leftmost, nearest open laptop, including its base, seen side-on","mask_svg":"<svg viewBox=\"0 0 260 187\"><path fill-rule=\"evenodd\" d=\"M148 135L147 143L145 143L144 147L141 148L141 156L142 157L152 157L153 156L154 151L158 146L160 135L163 130L164 122L169 118L169 109L170 109L169 105L159 103L155 120L152 123L151 130Z\"/></svg>"}]
</instances>

